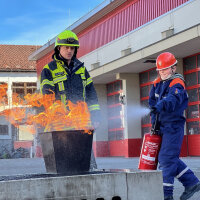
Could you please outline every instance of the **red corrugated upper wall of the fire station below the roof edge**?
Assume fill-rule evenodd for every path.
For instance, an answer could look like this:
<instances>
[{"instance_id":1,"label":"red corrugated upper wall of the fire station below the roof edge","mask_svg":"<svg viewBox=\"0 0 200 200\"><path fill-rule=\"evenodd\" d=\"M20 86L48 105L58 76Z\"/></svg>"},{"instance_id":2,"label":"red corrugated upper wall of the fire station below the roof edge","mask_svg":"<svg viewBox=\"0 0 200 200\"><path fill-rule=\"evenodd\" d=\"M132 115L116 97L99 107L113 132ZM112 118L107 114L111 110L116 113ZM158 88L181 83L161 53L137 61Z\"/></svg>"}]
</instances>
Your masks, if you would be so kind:
<instances>
[{"instance_id":1,"label":"red corrugated upper wall of the fire station below the roof edge","mask_svg":"<svg viewBox=\"0 0 200 200\"><path fill-rule=\"evenodd\" d=\"M128 0L78 34L81 57L188 0Z\"/></svg>"}]
</instances>

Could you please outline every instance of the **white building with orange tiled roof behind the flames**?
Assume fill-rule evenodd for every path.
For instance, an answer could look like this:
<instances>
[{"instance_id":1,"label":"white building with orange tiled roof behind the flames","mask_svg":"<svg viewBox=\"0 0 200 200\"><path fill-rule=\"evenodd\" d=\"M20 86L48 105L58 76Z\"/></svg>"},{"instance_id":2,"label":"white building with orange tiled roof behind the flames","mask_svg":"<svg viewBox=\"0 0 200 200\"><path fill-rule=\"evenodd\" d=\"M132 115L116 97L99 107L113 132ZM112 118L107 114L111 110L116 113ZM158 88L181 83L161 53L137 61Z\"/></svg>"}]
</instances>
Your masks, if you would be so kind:
<instances>
[{"instance_id":1,"label":"white building with orange tiled roof behind the flames","mask_svg":"<svg viewBox=\"0 0 200 200\"><path fill-rule=\"evenodd\" d=\"M36 92L36 64L29 61L28 56L37 48L29 45L0 45L0 87L4 86L7 91L4 97L6 101L0 100L0 112L14 107L13 94L23 99L26 94ZM33 138L26 125L13 126L5 115L0 114L0 156L11 154L20 147L30 148Z\"/></svg>"}]
</instances>

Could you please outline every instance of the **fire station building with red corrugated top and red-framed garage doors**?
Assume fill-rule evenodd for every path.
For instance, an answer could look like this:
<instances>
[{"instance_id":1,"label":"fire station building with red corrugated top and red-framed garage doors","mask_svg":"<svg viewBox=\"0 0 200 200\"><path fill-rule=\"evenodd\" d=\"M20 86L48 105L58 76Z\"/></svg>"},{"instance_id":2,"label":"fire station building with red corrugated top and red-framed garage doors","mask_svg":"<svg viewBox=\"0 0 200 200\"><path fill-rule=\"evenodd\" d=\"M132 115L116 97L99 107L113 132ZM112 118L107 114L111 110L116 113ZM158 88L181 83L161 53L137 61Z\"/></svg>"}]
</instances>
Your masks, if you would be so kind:
<instances>
[{"instance_id":1,"label":"fire station building with red corrugated top and red-framed garage doors","mask_svg":"<svg viewBox=\"0 0 200 200\"><path fill-rule=\"evenodd\" d=\"M155 59L164 51L178 59L189 94L181 155L200 155L199 7L200 0L105 0L66 28L78 35L78 57L98 92L102 126L94 135L96 156L139 156L151 127L142 108L157 76ZM54 43L55 38L29 57L37 62L38 77Z\"/></svg>"}]
</instances>

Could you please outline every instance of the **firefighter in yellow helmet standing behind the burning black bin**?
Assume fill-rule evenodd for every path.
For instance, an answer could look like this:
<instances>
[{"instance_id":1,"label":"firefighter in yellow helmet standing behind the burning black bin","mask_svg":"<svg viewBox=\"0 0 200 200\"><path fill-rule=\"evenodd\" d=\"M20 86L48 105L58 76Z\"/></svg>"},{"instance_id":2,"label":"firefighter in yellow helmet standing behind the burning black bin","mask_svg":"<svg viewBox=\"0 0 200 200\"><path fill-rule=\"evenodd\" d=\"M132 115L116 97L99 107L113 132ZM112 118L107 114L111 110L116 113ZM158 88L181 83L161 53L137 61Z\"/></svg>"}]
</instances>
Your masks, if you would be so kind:
<instances>
[{"instance_id":1,"label":"firefighter in yellow helmet standing behind the burning black bin","mask_svg":"<svg viewBox=\"0 0 200 200\"><path fill-rule=\"evenodd\" d=\"M41 72L41 92L55 93L56 99L63 103L67 100L73 103L85 101L96 129L99 126L100 106L92 78L84 63L76 58L79 46L77 35L70 30L56 37L53 61L45 65ZM94 156L92 158L94 160Z\"/></svg>"}]
</instances>

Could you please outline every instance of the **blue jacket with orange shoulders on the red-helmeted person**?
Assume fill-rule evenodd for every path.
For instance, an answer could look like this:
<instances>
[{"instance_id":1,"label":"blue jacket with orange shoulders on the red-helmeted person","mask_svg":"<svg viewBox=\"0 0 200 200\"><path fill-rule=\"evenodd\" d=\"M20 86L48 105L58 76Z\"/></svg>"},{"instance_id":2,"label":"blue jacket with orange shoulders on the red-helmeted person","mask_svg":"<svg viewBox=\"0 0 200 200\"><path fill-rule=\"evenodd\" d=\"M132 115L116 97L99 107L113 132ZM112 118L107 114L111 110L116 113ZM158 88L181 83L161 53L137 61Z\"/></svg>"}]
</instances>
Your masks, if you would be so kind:
<instances>
[{"instance_id":1,"label":"blue jacket with orange shoulders on the red-helmeted person","mask_svg":"<svg viewBox=\"0 0 200 200\"><path fill-rule=\"evenodd\" d=\"M157 78L151 88L149 95L150 107L155 106L159 112L158 121L161 125L168 123L184 123L184 110L187 108L188 95L181 74L175 74L166 81ZM152 124L155 115L152 114Z\"/></svg>"}]
</instances>

